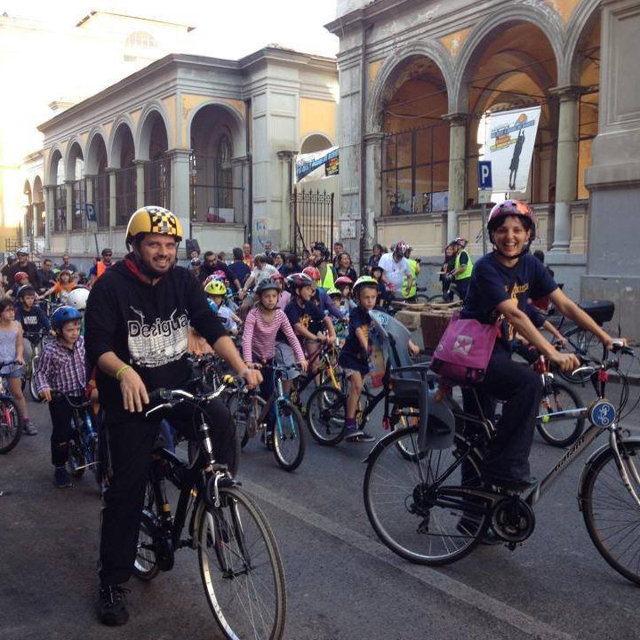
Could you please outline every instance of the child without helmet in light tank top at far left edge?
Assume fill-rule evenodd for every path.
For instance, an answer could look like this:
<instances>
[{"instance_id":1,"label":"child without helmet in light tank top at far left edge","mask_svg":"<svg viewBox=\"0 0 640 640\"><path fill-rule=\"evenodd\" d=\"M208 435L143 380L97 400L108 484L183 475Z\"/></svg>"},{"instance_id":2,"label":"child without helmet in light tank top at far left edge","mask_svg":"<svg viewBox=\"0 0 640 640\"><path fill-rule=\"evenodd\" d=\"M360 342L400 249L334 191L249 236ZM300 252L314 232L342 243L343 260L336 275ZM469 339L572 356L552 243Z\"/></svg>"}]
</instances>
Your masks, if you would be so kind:
<instances>
[{"instance_id":1,"label":"child without helmet in light tank top at far left edge","mask_svg":"<svg viewBox=\"0 0 640 640\"><path fill-rule=\"evenodd\" d=\"M24 427L28 436L36 436L37 429L28 417L27 403L22 395L22 376L24 375L24 339L22 327L15 320L15 302L11 298L0 300L0 373L9 380L9 393L18 404Z\"/></svg>"}]
</instances>

